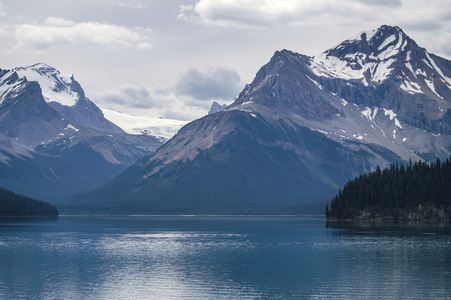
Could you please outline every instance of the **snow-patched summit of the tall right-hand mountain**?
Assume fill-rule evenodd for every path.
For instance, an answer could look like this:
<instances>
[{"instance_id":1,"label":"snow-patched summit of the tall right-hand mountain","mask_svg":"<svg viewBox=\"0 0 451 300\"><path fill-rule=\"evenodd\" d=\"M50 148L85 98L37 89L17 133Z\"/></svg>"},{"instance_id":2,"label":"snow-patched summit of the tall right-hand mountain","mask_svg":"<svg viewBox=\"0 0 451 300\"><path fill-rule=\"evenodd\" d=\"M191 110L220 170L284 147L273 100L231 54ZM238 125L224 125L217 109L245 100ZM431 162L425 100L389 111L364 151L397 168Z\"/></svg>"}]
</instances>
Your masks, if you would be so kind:
<instances>
[{"instance_id":1,"label":"snow-patched summit of the tall right-hand mountain","mask_svg":"<svg viewBox=\"0 0 451 300\"><path fill-rule=\"evenodd\" d=\"M318 76L356 80L377 86L396 78L404 91L443 99L436 87L451 87L445 61L420 48L399 27L382 26L362 32L315 57L311 69ZM434 81L436 80L436 81Z\"/></svg>"}]
</instances>

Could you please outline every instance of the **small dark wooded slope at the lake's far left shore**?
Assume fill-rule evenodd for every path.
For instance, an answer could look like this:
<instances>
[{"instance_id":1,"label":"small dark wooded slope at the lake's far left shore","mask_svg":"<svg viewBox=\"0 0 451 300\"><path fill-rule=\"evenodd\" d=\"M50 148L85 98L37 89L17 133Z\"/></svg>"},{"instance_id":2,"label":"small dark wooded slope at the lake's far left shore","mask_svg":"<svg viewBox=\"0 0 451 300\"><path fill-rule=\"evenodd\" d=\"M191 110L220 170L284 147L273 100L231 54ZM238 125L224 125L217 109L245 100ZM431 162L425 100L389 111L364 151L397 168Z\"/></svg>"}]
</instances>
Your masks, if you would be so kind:
<instances>
[{"instance_id":1,"label":"small dark wooded slope at the lake's far left shore","mask_svg":"<svg viewBox=\"0 0 451 300\"><path fill-rule=\"evenodd\" d=\"M0 216L58 216L56 207L0 188Z\"/></svg>"}]
</instances>

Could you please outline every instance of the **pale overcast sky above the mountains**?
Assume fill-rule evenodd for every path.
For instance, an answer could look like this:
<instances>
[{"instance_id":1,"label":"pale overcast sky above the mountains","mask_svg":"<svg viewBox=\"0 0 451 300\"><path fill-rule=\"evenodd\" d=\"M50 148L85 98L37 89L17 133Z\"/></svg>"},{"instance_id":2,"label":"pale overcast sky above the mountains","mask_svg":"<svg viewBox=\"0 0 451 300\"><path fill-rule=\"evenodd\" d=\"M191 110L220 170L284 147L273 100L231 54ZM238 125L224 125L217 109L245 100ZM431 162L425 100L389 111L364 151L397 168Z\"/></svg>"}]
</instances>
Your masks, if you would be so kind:
<instances>
[{"instance_id":1,"label":"pale overcast sky above the mountains","mask_svg":"<svg viewBox=\"0 0 451 300\"><path fill-rule=\"evenodd\" d=\"M46 63L99 107L189 121L275 51L315 56L381 25L451 58L450 0L0 0L0 69Z\"/></svg>"}]
</instances>

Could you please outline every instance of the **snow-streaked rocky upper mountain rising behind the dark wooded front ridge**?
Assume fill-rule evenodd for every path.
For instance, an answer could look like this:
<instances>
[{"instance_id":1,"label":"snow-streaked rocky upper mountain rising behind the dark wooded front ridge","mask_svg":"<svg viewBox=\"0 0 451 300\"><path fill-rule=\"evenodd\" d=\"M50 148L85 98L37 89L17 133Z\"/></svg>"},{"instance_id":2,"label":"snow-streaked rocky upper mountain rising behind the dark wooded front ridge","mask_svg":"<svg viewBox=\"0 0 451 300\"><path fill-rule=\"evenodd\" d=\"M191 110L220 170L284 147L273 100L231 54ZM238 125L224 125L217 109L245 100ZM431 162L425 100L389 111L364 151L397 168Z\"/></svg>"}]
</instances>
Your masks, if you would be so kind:
<instances>
[{"instance_id":1,"label":"snow-streaked rocky upper mountain rising behind the dark wooded front ridge","mask_svg":"<svg viewBox=\"0 0 451 300\"><path fill-rule=\"evenodd\" d=\"M328 138L381 145L404 160L443 157L451 133L450 70L449 61L400 28L382 26L318 57L277 52L228 110L290 116ZM268 104L277 111L267 114Z\"/></svg>"}]
</instances>

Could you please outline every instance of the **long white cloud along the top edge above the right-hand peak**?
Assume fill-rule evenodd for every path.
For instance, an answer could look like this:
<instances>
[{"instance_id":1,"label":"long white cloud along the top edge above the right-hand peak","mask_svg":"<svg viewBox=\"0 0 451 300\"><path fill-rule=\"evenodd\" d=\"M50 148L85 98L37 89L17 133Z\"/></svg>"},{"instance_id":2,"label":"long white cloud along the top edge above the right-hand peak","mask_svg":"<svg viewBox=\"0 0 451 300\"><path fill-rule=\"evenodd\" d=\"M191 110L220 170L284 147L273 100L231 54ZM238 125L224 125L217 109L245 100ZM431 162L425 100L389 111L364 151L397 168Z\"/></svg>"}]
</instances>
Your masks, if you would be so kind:
<instances>
[{"instance_id":1,"label":"long white cloud along the top edge above the right-hand peak","mask_svg":"<svg viewBox=\"0 0 451 300\"><path fill-rule=\"evenodd\" d=\"M178 18L210 26L269 28L297 25L399 25L445 19L447 0L198 0L182 5ZM396 22L396 24L392 24ZM360 25L361 26L361 25ZM368 28L370 29L370 28Z\"/></svg>"}]
</instances>

